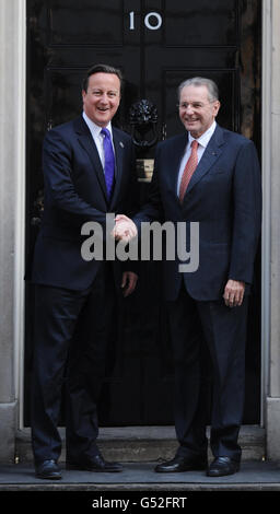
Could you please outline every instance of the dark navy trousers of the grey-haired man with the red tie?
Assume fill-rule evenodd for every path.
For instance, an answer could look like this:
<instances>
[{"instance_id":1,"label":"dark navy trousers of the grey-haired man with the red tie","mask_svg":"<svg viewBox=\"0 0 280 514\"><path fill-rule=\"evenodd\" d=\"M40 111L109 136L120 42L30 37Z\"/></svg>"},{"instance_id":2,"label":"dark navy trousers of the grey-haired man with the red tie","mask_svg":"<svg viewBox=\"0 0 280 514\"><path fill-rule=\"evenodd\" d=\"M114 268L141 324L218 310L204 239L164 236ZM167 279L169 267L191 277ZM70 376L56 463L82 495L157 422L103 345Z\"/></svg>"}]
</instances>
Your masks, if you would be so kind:
<instances>
[{"instance_id":1,"label":"dark navy trousers of the grey-haired man with the red tie","mask_svg":"<svg viewBox=\"0 0 280 514\"><path fill-rule=\"evenodd\" d=\"M247 297L241 307L197 302L182 288L168 303L175 365L175 429L178 455L205 456L208 385L203 346L211 358L213 390L210 444L215 457L240 460L243 419Z\"/></svg>"}]
</instances>

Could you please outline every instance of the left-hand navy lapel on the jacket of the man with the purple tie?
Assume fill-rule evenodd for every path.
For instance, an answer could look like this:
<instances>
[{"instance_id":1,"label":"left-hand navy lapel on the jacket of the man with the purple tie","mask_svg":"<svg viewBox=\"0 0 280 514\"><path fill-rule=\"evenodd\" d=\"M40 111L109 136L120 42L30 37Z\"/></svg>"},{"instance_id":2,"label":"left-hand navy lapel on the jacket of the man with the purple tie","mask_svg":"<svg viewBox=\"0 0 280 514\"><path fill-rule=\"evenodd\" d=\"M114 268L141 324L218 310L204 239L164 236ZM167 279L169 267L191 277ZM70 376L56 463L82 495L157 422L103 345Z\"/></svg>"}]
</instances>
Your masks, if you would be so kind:
<instances>
[{"instance_id":1,"label":"left-hand navy lapel on the jacket of the man with the purple tie","mask_svg":"<svg viewBox=\"0 0 280 514\"><path fill-rule=\"evenodd\" d=\"M80 144L83 147L83 149L86 151L86 153L89 154L91 159L91 162L96 173L101 189L107 202L105 176L104 176L103 166L100 160L98 151L92 138L91 131L82 117L75 119L75 131L78 133L78 140Z\"/></svg>"}]
</instances>

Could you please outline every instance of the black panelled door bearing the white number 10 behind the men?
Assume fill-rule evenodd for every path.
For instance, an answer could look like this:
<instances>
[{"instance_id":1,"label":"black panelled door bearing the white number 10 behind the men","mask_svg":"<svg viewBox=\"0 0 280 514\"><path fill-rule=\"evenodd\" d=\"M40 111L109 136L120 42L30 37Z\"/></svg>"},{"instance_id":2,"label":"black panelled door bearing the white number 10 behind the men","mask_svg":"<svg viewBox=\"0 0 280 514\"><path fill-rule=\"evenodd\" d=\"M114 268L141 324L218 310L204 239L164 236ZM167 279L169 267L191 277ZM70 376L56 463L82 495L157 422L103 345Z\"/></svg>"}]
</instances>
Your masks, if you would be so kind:
<instances>
[{"instance_id":1,"label":"black panelled door bearing the white number 10 behind the men","mask_svg":"<svg viewBox=\"0 0 280 514\"><path fill-rule=\"evenodd\" d=\"M182 131L176 87L194 75L215 80L218 121L260 151L260 3L254 0L27 0L27 210L31 262L43 208L42 141L81 113L81 80L97 62L122 69L115 124L133 133L139 200L147 198L155 141ZM139 101L149 101L147 124ZM147 108L147 103L142 108ZM258 259L259 260L259 259ZM160 262L143 266L137 292L112 332L100 402L103 425L173 424L173 369ZM28 269L27 269L28 276ZM259 420L260 266L250 299L244 423ZM26 282L25 423L33 348L33 290Z\"/></svg>"}]
</instances>

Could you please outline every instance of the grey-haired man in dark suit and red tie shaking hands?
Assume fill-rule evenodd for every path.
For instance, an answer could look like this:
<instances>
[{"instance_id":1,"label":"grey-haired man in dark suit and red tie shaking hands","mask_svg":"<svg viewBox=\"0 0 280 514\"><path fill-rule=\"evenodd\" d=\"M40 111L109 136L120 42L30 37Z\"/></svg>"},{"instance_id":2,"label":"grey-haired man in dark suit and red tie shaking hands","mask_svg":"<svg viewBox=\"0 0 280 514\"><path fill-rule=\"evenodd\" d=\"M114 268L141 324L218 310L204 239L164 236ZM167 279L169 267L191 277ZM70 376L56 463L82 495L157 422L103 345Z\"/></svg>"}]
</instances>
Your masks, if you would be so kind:
<instances>
[{"instance_id":1,"label":"grey-haired man in dark suit and red tie shaking hands","mask_svg":"<svg viewBox=\"0 0 280 514\"><path fill-rule=\"evenodd\" d=\"M179 86L179 117L186 131L158 145L149 203L133 218L135 224L118 217L115 230L116 238L129 241L143 221L185 222L189 249L189 224L199 223L198 268L180 272L178 259L163 266L179 447L175 458L158 465L159 472L206 468L218 477L236 472L241 462L237 437L244 407L247 302L260 232L260 172L253 142L217 125L219 108L212 81L195 78ZM213 373L214 459L209 467L203 347Z\"/></svg>"}]
</instances>

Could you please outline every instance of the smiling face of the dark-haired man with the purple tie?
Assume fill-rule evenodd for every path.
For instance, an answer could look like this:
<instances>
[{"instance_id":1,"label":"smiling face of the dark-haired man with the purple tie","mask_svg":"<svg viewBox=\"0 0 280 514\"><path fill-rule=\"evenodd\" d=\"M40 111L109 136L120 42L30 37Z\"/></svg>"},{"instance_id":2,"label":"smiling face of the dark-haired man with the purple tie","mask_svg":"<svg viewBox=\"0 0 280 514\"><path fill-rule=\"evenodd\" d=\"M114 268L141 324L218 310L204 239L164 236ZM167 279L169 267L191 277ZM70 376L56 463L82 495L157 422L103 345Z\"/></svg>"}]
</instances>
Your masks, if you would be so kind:
<instances>
[{"instance_id":1,"label":"smiling face of the dark-haired man with the purple tie","mask_svg":"<svg viewBox=\"0 0 280 514\"><path fill-rule=\"evenodd\" d=\"M115 73L94 73L82 96L86 116L100 127L106 127L119 106L120 80Z\"/></svg>"}]
</instances>

